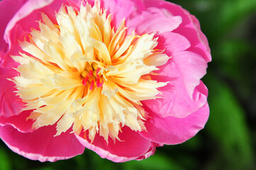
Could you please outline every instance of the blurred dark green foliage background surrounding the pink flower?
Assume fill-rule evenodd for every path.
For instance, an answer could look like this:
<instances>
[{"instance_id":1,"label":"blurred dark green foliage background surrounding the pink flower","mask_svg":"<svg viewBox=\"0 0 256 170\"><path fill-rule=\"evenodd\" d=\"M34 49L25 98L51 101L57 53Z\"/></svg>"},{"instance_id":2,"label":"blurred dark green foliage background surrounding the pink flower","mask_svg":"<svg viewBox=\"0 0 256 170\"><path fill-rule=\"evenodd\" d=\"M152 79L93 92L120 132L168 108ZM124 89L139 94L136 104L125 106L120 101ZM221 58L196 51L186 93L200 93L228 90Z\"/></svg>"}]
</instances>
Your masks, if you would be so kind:
<instances>
[{"instance_id":1,"label":"blurred dark green foliage background surrounding the pink flower","mask_svg":"<svg viewBox=\"0 0 256 170\"><path fill-rule=\"evenodd\" d=\"M0 141L0 170L255 170L256 0L172 2L199 18L211 47L213 61L203 79L211 114L204 130L181 145L157 148L148 159L119 164L88 149L69 160L35 162L11 152Z\"/></svg>"}]
</instances>

